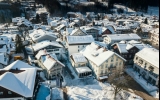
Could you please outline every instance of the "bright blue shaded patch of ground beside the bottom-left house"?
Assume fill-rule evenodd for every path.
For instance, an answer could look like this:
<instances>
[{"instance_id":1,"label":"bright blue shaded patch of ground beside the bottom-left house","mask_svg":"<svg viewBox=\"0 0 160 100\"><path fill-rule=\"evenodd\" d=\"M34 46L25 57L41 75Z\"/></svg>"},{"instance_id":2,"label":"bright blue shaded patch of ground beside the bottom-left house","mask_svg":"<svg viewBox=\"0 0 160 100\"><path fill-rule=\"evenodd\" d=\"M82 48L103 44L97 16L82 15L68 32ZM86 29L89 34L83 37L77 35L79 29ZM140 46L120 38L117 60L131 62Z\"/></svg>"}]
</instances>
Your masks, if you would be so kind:
<instances>
[{"instance_id":1,"label":"bright blue shaded patch of ground beside the bottom-left house","mask_svg":"<svg viewBox=\"0 0 160 100\"><path fill-rule=\"evenodd\" d=\"M37 96L36 96L36 100L46 100L46 97L50 94L48 85L43 82L40 85L40 88L38 90Z\"/></svg>"}]
</instances>

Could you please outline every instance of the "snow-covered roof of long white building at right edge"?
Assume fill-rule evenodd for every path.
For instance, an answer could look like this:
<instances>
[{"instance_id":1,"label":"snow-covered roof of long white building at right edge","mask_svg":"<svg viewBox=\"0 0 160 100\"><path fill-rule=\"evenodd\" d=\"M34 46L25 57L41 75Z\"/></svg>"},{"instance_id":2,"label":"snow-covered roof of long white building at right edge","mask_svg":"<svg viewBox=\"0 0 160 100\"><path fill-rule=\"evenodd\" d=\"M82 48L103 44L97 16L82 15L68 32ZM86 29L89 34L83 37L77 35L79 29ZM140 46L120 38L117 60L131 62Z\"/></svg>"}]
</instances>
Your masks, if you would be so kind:
<instances>
[{"instance_id":1,"label":"snow-covered roof of long white building at right edge","mask_svg":"<svg viewBox=\"0 0 160 100\"><path fill-rule=\"evenodd\" d=\"M154 48L143 48L136 53L136 55L159 68L159 50Z\"/></svg>"}]
</instances>

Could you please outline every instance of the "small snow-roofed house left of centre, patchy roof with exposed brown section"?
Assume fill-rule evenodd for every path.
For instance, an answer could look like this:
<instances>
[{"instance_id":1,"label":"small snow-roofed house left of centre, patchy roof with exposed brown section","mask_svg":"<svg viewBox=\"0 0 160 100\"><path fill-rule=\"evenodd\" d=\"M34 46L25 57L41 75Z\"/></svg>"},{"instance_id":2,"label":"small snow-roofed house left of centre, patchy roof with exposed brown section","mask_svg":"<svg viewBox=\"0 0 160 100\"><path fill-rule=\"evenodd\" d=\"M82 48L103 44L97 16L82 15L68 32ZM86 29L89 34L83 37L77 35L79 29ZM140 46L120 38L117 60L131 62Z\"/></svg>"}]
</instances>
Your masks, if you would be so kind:
<instances>
[{"instance_id":1,"label":"small snow-roofed house left of centre, patchy roof with exposed brown section","mask_svg":"<svg viewBox=\"0 0 160 100\"><path fill-rule=\"evenodd\" d=\"M57 59L54 52L48 53L46 50L40 50L35 57L38 60L39 66L44 69L47 79L56 78L57 75L62 76L65 65Z\"/></svg>"}]
</instances>

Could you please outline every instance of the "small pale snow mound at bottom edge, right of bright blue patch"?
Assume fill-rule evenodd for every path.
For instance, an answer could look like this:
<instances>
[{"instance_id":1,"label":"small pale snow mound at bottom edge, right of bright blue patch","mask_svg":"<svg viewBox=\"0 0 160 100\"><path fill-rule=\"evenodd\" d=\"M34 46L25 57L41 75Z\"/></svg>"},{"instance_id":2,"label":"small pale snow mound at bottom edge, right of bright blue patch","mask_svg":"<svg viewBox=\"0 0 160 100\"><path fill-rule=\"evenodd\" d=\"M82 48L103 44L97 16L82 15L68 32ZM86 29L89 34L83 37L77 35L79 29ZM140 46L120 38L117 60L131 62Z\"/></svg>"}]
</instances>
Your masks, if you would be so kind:
<instances>
[{"instance_id":1,"label":"small pale snow mound at bottom edge, right of bright blue patch","mask_svg":"<svg viewBox=\"0 0 160 100\"><path fill-rule=\"evenodd\" d=\"M63 100L63 92L59 88L52 89L52 100Z\"/></svg>"}]
</instances>

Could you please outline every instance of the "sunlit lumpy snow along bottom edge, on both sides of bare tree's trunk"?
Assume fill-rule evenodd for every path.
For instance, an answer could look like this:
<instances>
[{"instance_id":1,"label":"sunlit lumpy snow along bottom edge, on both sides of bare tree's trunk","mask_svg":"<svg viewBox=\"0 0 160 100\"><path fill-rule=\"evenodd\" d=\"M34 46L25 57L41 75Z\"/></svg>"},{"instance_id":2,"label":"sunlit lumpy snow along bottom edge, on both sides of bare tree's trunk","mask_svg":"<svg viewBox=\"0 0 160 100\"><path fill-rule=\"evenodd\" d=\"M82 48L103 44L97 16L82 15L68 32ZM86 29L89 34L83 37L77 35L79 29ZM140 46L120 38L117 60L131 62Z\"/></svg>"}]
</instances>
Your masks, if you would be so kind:
<instances>
[{"instance_id":1,"label":"sunlit lumpy snow along bottom edge, on both sides of bare tree's trunk","mask_svg":"<svg viewBox=\"0 0 160 100\"><path fill-rule=\"evenodd\" d=\"M69 100L113 100L113 88L110 84L96 83L92 85L79 85L67 87ZM128 97L126 97L126 93ZM143 100L141 97L132 93L122 91L121 96L125 100ZM121 100L117 95L117 100Z\"/></svg>"}]
</instances>

